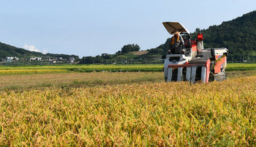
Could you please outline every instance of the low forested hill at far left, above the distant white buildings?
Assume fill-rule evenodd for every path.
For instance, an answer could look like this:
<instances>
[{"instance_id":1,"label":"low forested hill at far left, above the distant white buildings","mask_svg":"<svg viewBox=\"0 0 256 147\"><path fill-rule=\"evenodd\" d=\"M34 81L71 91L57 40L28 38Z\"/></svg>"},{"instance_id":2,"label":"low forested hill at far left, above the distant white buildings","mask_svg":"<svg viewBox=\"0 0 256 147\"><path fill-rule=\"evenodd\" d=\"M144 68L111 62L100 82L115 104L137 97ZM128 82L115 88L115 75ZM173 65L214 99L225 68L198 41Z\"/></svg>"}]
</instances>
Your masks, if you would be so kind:
<instances>
[{"instance_id":1,"label":"low forested hill at far left, above the distant white buildings","mask_svg":"<svg viewBox=\"0 0 256 147\"><path fill-rule=\"evenodd\" d=\"M69 59L69 57L74 57L75 59L78 59L78 56L75 55L66 55L66 54L54 54L54 53L40 53L40 52L34 52L25 50L23 48L16 48L12 45L7 45L2 42L0 42L0 59L6 59L8 56L17 56L20 59L29 59L30 57L52 57L52 58L58 58L62 57L63 59Z\"/></svg>"}]
</instances>

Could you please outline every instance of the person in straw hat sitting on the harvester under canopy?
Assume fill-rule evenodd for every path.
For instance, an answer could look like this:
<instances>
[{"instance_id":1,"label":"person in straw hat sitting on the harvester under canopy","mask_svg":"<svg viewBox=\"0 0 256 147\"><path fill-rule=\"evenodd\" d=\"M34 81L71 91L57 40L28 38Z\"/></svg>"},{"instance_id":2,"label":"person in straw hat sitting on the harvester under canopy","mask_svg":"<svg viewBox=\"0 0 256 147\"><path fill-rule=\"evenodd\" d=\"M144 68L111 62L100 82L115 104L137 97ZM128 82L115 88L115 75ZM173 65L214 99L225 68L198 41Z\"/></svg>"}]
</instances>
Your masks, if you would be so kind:
<instances>
[{"instance_id":1,"label":"person in straw hat sitting on the harvester under canopy","mask_svg":"<svg viewBox=\"0 0 256 147\"><path fill-rule=\"evenodd\" d=\"M172 31L171 34L174 34L173 37L170 38L169 50L168 53L172 54L182 54L184 48L184 39L179 35L181 31L175 30Z\"/></svg>"}]
</instances>

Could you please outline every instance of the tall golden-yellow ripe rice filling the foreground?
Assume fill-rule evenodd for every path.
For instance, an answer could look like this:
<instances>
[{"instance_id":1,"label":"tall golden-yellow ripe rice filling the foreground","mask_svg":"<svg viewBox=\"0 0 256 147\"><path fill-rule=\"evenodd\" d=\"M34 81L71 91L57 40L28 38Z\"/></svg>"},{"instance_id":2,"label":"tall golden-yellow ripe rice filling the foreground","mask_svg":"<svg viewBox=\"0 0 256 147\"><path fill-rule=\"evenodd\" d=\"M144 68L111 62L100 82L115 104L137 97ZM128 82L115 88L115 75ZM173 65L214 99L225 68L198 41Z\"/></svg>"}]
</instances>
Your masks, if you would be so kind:
<instances>
[{"instance_id":1,"label":"tall golden-yellow ripe rice filling the foreground","mask_svg":"<svg viewBox=\"0 0 256 147\"><path fill-rule=\"evenodd\" d=\"M255 81L0 91L0 143L256 146Z\"/></svg>"}]
</instances>

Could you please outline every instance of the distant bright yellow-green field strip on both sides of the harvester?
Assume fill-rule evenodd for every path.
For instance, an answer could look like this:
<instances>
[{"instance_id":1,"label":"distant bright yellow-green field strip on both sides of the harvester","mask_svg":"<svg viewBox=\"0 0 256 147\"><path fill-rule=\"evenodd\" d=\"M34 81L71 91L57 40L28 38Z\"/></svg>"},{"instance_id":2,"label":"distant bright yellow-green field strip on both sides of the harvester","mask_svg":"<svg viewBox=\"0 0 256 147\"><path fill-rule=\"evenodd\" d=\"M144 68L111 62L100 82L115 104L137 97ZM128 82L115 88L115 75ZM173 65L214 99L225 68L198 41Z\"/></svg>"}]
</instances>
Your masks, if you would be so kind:
<instances>
[{"instance_id":1,"label":"distant bright yellow-green field strip on both sides of the harvester","mask_svg":"<svg viewBox=\"0 0 256 147\"><path fill-rule=\"evenodd\" d=\"M89 65L53 65L27 67L0 67L3 74L29 74L54 72L162 72L163 64L89 64ZM226 71L255 70L256 64L227 64ZM20 72L18 72L20 70ZM26 72L27 71L27 72Z\"/></svg>"}]
</instances>

